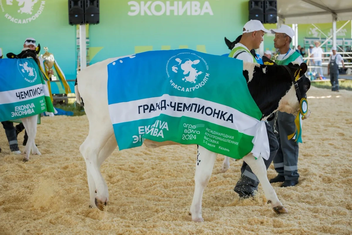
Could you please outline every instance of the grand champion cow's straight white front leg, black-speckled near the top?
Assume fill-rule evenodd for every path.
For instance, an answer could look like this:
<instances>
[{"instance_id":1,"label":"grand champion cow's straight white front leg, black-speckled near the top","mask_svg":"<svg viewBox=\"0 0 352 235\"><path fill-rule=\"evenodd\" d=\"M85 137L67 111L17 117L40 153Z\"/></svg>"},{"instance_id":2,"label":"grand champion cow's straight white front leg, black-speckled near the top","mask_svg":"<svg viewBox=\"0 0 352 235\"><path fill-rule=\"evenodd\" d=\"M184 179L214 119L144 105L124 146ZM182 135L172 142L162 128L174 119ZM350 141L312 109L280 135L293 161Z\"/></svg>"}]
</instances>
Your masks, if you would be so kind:
<instances>
[{"instance_id":1,"label":"grand champion cow's straight white front leg, black-speckled near the top","mask_svg":"<svg viewBox=\"0 0 352 235\"><path fill-rule=\"evenodd\" d=\"M196 172L194 176L195 186L190 215L192 216L192 221L203 222L202 196L210 179L210 175L212 175L214 162L218 154L210 152L202 146L197 147Z\"/></svg>"}]
</instances>

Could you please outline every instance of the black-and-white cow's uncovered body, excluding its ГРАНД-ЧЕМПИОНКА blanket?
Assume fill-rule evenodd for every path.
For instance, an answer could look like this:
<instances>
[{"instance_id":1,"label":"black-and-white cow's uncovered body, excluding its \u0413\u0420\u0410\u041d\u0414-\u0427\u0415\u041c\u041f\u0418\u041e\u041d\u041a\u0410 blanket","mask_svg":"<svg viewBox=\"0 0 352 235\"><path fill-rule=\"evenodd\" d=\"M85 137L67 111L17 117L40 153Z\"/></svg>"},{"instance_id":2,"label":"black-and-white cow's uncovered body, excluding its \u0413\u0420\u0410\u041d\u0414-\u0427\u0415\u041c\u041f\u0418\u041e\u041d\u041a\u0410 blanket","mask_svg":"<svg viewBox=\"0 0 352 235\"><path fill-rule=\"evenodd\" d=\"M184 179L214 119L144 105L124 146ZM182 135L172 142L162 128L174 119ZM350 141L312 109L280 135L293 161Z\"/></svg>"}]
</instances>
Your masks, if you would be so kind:
<instances>
[{"instance_id":1,"label":"black-and-white cow's uncovered body, excluding its \u0413\u0420\u0410\u041d\u0414-\u0427\u0415\u041c\u041f\u0418\u041e\u041d\u041a\u0410 blanket","mask_svg":"<svg viewBox=\"0 0 352 235\"><path fill-rule=\"evenodd\" d=\"M81 98L84 100L84 110L89 121L89 133L80 146L80 151L86 161L90 206L98 207L100 210L104 209L109 200L108 187L100 173L100 166L118 146L108 110L107 65L123 57L127 56L110 58L83 69L77 76L75 86L77 103L81 103ZM307 70L305 63L301 65L290 63L288 66L243 63L243 75L250 94L263 113L262 120L266 120L277 110L294 113L298 109L300 99L296 94L293 76L299 69L302 70L297 82L298 89L301 95L305 95L310 87L310 80L304 75ZM177 143L145 140L144 144L147 147L156 148ZM195 191L190 206L192 221L203 221L202 195L212 174L216 156L216 153L201 146L198 147L200 164L196 164ZM253 155L249 154L243 159L260 180L272 209L276 213L288 213L269 183L262 157L255 160Z\"/></svg>"}]
</instances>

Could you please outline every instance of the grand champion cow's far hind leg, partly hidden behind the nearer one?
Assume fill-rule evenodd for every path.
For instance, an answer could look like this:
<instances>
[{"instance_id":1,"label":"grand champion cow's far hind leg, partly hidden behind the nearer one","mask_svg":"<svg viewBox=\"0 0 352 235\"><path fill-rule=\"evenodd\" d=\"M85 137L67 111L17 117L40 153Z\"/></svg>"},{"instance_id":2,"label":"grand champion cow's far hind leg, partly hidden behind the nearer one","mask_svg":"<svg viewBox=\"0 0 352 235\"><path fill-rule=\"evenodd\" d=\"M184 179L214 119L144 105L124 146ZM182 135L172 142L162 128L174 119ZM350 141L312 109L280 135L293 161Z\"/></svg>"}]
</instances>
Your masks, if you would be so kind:
<instances>
[{"instance_id":1,"label":"grand champion cow's far hind leg, partly hidden behind the nearer one","mask_svg":"<svg viewBox=\"0 0 352 235\"><path fill-rule=\"evenodd\" d=\"M105 146L102 148L102 150L100 150L99 156L98 156L98 167L100 168L101 164L107 159L108 156L110 156L112 154L112 152L115 150L115 148L117 147L117 142L116 142L116 138L115 135L112 135L108 142L105 144ZM88 179L88 186L89 186L89 199L90 199L90 204L89 207L90 208L95 208L95 196L97 193L96 187L95 187L95 183L92 177L92 174L90 174L90 172L87 171L87 177Z\"/></svg>"}]
</instances>

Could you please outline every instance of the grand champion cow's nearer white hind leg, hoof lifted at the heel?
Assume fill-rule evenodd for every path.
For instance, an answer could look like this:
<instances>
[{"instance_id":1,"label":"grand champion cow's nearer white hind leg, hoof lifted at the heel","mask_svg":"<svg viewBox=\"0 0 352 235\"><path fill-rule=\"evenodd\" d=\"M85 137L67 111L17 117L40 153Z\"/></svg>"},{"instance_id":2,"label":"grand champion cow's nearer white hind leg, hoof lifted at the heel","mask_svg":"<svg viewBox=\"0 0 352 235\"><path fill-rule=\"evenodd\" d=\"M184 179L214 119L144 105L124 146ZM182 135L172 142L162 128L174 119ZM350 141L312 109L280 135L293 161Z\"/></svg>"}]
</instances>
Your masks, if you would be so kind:
<instances>
[{"instance_id":1,"label":"grand champion cow's nearer white hind leg, hoof lifted at the heel","mask_svg":"<svg viewBox=\"0 0 352 235\"><path fill-rule=\"evenodd\" d=\"M93 192L96 190L97 195L94 199L94 204L100 210L103 210L104 205L107 204L109 193L108 187L100 172L98 156L112 135L113 128L111 123L109 125L109 123L103 122L102 120L89 122L88 136L80 147L80 152L84 161L86 161L90 198L92 198ZM93 203L92 199L90 203Z\"/></svg>"}]
</instances>

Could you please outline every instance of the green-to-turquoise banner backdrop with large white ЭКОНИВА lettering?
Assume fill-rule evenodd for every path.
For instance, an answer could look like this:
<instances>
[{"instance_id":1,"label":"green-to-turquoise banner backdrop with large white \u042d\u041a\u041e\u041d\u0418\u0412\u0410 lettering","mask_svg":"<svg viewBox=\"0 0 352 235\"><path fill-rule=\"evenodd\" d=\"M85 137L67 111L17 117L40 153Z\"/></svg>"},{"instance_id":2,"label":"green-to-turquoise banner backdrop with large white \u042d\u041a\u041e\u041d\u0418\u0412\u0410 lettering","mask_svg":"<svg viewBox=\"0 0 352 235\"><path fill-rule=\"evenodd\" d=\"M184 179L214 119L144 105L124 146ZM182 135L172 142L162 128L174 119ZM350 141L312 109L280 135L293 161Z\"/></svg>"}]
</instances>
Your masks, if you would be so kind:
<instances>
[{"instance_id":1,"label":"green-to-turquoise banner backdrop with large white \u042d\u041a\u041e\u041d\u0418\u0412\u0410 lettering","mask_svg":"<svg viewBox=\"0 0 352 235\"><path fill-rule=\"evenodd\" d=\"M75 79L76 26L68 24L67 0L0 0L0 48L18 54L27 37L53 53L66 79ZM248 20L248 0L100 1L100 23L89 26L90 64L109 57L146 50L189 48L215 55L229 53L224 37L233 41ZM338 22L337 27L343 22ZM325 26L326 25L326 26ZM331 24L318 24L329 33ZM267 29L276 24L265 24ZM298 26L300 41L310 36ZM351 23L342 33L351 37ZM310 30L312 31L312 30ZM274 35L264 48L274 50Z\"/></svg>"}]
</instances>

